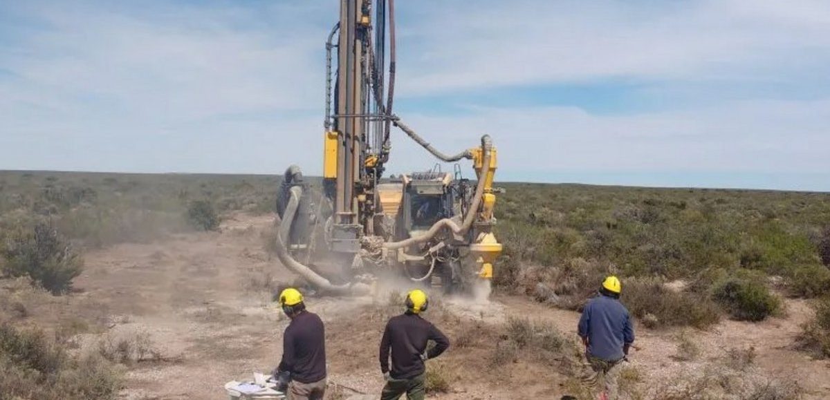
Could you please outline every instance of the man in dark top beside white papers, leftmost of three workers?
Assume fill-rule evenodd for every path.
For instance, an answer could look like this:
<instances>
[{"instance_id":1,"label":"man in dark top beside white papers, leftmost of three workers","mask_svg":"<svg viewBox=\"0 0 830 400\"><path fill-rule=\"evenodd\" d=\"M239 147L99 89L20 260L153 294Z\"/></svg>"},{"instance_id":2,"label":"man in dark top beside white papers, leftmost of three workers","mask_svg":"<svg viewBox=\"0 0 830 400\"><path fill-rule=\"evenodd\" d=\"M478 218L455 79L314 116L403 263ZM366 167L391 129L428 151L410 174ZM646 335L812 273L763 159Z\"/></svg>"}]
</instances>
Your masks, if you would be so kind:
<instances>
[{"instance_id":1,"label":"man in dark top beside white papers, leftmost of three workers","mask_svg":"<svg viewBox=\"0 0 830 400\"><path fill-rule=\"evenodd\" d=\"M322 399L325 394L325 329L320 317L305 310L303 295L288 288L280 294L282 311L291 318L282 336L282 360L274 376L292 400Z\"/></svg>"}]
</instances>

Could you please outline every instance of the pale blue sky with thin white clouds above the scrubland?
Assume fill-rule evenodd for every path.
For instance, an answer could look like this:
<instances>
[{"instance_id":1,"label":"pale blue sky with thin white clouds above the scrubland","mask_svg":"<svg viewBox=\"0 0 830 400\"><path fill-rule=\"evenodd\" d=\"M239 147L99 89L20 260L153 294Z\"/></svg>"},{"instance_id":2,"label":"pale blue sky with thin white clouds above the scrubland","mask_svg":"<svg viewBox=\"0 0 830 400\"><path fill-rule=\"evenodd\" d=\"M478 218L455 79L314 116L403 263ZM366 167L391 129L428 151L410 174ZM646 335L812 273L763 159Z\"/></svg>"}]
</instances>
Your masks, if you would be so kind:
<instances>
[{"instance_id":1,"label":"pale blue sky with thin white clouds above the scrubland","mask_svg":"<svg viewBox=\"0 0 830 400\"><path fill-rule=\"evenodd\" d=\"M0 169L320 173L338 4L0 0ZM501 179L830 191L830 2L396 8L396 113Z\"/></svg>"}]
</instances>

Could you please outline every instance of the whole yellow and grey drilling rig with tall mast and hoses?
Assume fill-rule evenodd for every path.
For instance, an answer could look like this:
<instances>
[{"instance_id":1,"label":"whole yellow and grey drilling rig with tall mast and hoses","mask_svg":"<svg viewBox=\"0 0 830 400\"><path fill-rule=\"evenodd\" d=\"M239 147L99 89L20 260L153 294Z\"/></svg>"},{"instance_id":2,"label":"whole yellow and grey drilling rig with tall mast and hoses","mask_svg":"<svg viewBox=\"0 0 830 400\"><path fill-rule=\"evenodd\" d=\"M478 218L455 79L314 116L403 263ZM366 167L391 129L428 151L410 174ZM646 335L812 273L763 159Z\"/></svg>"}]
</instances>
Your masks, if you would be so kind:
<instances>
[{"instance_id":1,"label":"whole yellow and grey drilling rig with tall mast and hoses","mask_svg":"<svg viewBox=\"0 0 830 400\"><path fill-rule=\"evenodd\" d=\"M322 187L313 190L298 166L286 169L276 200L281 262L317 289L341 294L367 292L384 275L445 292L489 284L501 252L492 232L496 148L485 134L470 149L444 154L393 114L394 0L341 0L325 51ZM384 177L393 127L456 163L453 172L437 166ZM475 180L463 178L463 159Z\"/></svg>"}]
</instances>

